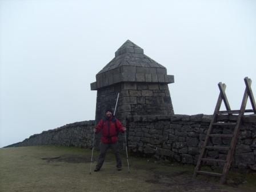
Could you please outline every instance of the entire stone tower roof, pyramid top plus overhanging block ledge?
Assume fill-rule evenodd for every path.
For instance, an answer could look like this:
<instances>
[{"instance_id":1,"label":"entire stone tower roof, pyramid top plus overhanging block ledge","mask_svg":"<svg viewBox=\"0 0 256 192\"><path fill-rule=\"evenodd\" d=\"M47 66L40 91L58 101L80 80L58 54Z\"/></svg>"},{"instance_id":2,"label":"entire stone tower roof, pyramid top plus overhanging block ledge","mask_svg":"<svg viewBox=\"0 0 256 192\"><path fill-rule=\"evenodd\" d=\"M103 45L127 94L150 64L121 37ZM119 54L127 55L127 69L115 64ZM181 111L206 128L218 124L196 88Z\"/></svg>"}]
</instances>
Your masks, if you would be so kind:
<instances>
[{"instance_id":1,"label":"entire stone tower roof, pyramid top plus overhanging block ledge","mask_svg":"<svg viewBox=\"0 0 256 192\"><path fill-rule=\"evenodd\" d=\"M119 82L173 83L174 76L166 68L144 54L141 47L127 40L115 51L115 57L96 75L91 90Z\"/></svg>"}]
</instances>

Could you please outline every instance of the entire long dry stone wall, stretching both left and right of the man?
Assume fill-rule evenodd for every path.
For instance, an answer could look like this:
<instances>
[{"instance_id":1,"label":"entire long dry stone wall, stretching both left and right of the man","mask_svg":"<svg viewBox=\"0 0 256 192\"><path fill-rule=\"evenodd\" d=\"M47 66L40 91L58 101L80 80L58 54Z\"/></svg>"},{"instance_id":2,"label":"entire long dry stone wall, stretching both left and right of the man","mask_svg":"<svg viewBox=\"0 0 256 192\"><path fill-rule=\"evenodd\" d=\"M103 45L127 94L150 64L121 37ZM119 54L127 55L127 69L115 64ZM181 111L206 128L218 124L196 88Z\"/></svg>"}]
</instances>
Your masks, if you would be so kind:
<instances>
[{"instance_id":1,"label":"entire long dry stone wall, stretching both left and right of the man","mask_svg":"<svg viewBox=\"0 0 256 192\"><path fill-rule=\"evenodd\" d=\"M235 116L222 115L219 121L235 121ZM128 147L133 153L167 161L196 164L211 121L211 115L135 115L126 119ZM62 145L91 147L95 121L71 123L57 129L32 135L8 147ZM216 127L214 133L230 134L231 127ZM98 135L99 137L100 135ZM228 145L229 138L213 138L210 145ZM119 145L125 149L123 134ZM210 158L225 159L226 151L209 150ZM213 168L216 163L208 163ZM232 167L256 170L256 116L243 118Z\"/></svg>"}]
</instances>

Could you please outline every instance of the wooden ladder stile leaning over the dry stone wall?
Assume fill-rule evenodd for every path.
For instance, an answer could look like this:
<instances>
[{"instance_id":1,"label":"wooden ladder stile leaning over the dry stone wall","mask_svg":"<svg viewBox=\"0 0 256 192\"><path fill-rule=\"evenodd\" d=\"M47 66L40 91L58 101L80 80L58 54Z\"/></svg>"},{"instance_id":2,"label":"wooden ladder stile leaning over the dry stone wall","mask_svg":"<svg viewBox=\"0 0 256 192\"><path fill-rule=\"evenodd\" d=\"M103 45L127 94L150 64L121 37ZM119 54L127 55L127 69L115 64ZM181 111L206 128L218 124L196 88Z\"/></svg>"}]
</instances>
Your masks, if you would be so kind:
<instances>
[{"instance_id":1,"label":"wooden ladder stile leaning over the dry stone wall","mask_svg":"<svg viewBox=\"0 0 256 192\"><path fill-rule=\"evenodd\" d=\"M240 110L231 110L230 109L230 105L229 105L229 102L227 101L227 97L226 97L226 93L225 93L226 85L224 83L218 83L218 87L219 87L219 91L220 91L218 101L217 101L217 104L215 106L215 110L214 110L214 113L213 113L213 118L211 119L209 129L207 130L205 142L202 145L202 150L201 150L201 153L199 155L197 165L195 166L193 178L197 177L197 174L203 174L203 175L209 175L209 176L214 176L214 177L220 177L221 178L221 180L220 180L221 184L224 184L226 182L226 177L227 177L227 174L229 173L230 165L231 165L231 162L233 160L233 155L234 155L234 151L235 151L235 144L237 143L237 139L238 139L238 135L239 135L239 127L241 126L243 114L244 113L251 113L251 112L256 114L255 100L254 100L254 96L253 96L253 91L251 90L251 79L246 77L244 80L245 80L246 89L245 89L245 93L243 95ZM253 107L252 110L246 110L245 109L248 97L250 98L251 106ZM222 101L225 103L226 111L219 111L219 109L221 108ZM231 122L231 123L230 122L217 122L219 114L228 114L228 115L238 114L237 115L237 122L236 123L233 123L233 122ZM216 125L217 126L234 126L234 133L233 134L213 134L212 133L213 132L213 126L216 126ZM212 138L212 137L231 138L230 146L207 146L209 144L210 138ZM208 149L211 149L211 150L215 150L215 149L227 150L228 151L227 152L227 157L226 157L225 160L207 158L206 155L207 155L207 150ZM224 163L222 173L202 171L201 166L202 166L203 161L213 161L213 162L222 162L222 163Z\"/></svg>"}]
</instances>

